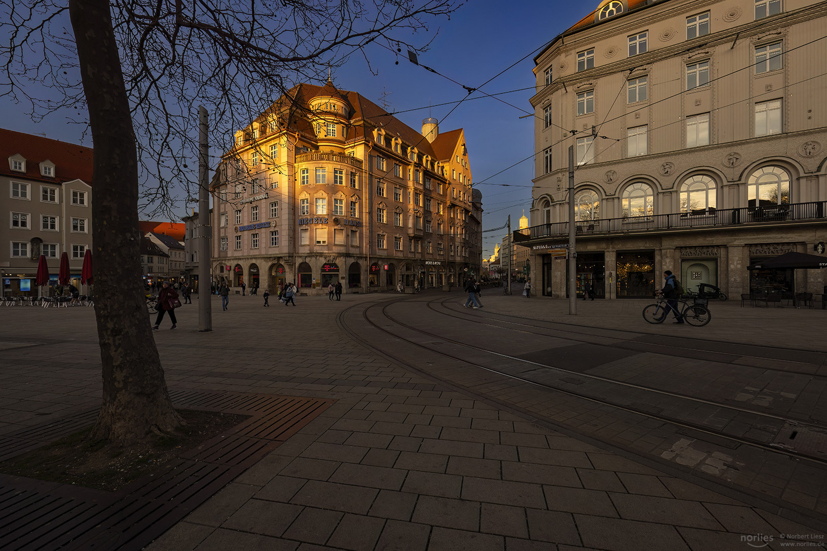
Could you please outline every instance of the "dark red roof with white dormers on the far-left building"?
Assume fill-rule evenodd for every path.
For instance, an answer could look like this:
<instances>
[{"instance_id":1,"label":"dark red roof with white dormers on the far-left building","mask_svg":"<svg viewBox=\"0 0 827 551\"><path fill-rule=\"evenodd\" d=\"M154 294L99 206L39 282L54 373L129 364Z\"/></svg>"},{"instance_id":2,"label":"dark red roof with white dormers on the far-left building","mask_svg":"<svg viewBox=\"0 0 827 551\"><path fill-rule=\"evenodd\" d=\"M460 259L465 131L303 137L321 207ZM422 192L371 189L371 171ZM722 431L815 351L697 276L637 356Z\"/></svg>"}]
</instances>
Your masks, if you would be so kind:
<instances>
[{"instance_id":1,"label":"dark red roof with white dormers on the far-left building","mask_svg":"<svg viewBox=\"0 0 827 551\"><path fill-rule=\"evenodd\" d=\"M0 174L20 178L22 173L13 171L8 164L7 159L13 154L26 159L27 179L52 183L79 179L92 185L91 148L0 128ZM55 178L41 176L39 164L46 159L55 164Z\"/></svg>"}]
</instances>

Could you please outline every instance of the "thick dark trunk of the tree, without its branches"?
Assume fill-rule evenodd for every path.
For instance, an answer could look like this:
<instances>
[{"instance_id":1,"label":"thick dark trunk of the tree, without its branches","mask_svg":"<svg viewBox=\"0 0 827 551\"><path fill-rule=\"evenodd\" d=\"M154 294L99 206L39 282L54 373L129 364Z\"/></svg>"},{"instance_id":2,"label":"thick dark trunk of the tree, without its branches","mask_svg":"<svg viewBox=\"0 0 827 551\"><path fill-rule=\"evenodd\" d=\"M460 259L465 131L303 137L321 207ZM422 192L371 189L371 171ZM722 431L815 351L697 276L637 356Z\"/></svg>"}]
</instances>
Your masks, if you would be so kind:
<instances>
[{"instance_id":1,"label":"thick dark trunk of the tree, without its branches","mask_svg":"<svg viewBox=\"0 0 827 551\"><path fill-rule=\"evenodd\" d=\"M103 404L93 437L141 444L182 421L146 316L135 131L107 0L69 0L69 16L94 147L91 226Z\"/></svg>"}]
</instances>

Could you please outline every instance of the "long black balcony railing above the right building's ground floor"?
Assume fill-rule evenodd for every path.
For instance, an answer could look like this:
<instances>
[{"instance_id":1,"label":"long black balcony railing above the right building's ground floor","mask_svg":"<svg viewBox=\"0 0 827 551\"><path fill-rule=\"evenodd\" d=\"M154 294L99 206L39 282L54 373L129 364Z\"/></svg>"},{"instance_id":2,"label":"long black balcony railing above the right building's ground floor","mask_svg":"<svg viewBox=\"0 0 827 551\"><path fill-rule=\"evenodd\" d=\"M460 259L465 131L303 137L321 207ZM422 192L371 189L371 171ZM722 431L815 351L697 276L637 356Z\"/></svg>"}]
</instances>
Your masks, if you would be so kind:
<instances>
[{"instance_id":1,"label":"long black balcony railing above the right building's ground floor","mask_svg":"<svg viewBox=\"0 0 827 551\"><path fill-rule=\"evenodd\" d=\"M576 222L577 235L617 235L652 231L756 226L779 222L827 219L827 201L705 209L652 216L628 216ZM514 231L514 242L568 235L568 222L554 222Z\"/></svg>"}]
</instances>

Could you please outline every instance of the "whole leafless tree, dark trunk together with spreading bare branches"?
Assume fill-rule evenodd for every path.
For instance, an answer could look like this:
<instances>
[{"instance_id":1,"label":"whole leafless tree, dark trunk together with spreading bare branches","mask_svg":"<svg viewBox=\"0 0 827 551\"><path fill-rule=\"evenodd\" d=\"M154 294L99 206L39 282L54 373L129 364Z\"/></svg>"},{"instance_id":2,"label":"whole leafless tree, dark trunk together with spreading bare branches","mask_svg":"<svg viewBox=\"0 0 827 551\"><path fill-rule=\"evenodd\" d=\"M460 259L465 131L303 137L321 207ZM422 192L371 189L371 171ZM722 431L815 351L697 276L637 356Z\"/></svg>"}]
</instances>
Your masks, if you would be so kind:
<instances>
[{"instance_id":1,"label":"whole leafless tree, dark trunk together with spreading bare branches","mask_svg":"<svg viewBox=\"0 0 827 551\"><path fill-rule=\"evenodd\" d=\"M103 364L94 437L141 444L181 423L146 322L138 211L170 214L180 198L175 189L183 188L184 200L197 195L186 159L197 158L198 104L213 113L211 142L230 150L234 131L294 83L318 79L350 55L366 56L371 43L394 52L423 50L433 35L429 21L450 16L460 4L0 0L0 36L8 36L0 45L0 95L27 102L36 121L74 109L92 135L95 316ZM426 38L417 46L418 33Z\"/></svg>"}]
</instances>

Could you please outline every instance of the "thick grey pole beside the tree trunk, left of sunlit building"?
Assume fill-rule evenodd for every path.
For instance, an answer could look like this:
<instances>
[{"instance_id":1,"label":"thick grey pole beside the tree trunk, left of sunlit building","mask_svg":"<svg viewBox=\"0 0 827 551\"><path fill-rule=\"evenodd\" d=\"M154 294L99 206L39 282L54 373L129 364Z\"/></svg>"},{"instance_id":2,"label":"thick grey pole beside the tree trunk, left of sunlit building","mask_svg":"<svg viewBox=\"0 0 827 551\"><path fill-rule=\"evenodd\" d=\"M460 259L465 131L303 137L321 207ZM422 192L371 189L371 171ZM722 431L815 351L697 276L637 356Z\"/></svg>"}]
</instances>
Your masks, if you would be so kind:
<instances>
[{"instance_id":1,"label":"thick grey pole beside the tree trunk, left of sunlit building","mask_svg":"<svg viewBox=\"0 0 827 551\"><path fill-rule=\"evenodd\" d=\"M198 330L213 330L213 294L210 292L209 143L207 110L198 106Z\"/></svg>"}]
</instances>

